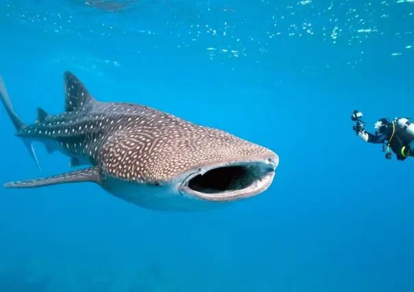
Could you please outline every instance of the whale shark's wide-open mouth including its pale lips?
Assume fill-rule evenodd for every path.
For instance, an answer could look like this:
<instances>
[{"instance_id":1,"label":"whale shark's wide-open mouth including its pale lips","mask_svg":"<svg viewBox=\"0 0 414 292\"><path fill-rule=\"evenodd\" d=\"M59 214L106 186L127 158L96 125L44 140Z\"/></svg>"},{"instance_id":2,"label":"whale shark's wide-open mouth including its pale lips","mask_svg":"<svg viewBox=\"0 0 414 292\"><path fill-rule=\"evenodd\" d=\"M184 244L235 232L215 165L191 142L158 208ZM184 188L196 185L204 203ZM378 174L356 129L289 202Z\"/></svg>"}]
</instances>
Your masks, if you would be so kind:
<instances>
[{"instance_id":1,"label":"whale shark's wide-open mouth including its pale lips","mask_svg":"<svg viewBox=\"0 0 414 292\"><path fill-rule=\"evenodd\" d=\"M252 197L270 186L276 166L276 161L268 159L206 167L189 175L182 183L181 191L215 202Z\"/></svg>"}]
</instances>

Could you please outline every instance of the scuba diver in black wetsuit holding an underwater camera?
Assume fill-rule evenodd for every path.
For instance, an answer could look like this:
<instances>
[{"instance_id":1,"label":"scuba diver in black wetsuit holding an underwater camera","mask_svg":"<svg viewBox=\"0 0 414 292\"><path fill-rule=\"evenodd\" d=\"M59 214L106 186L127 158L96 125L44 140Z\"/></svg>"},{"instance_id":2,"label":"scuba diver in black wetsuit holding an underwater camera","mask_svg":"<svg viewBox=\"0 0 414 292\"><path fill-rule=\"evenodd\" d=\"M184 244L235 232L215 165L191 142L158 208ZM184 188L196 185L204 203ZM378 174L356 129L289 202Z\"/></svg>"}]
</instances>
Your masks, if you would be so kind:
<instances>
[{"instance_id":1,"label":"scuba diver in black wetsuit holding an underwater camera","mask_svg":"<svg viewBox=\"0 0 414 292\"><path fill-rule=\"evenodd\" d=\"M409 121L410 118L395 118L391 122L387 118L379 119L374 125L376 132L372 134L365 131L366 123L361 121L361 117L363 114L354 110L351 116L352 121L356 121L353 130L365 142L382 143L382 151L385 151L387 141L385 158L391 159L389 148L395 153L397 160L403 161L408 157L414 157L414 123Z\"/></svg>"}]
</instances>

